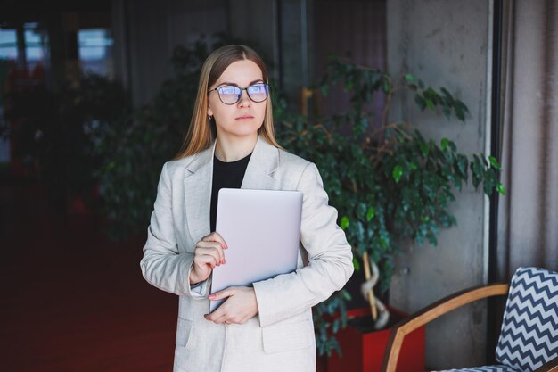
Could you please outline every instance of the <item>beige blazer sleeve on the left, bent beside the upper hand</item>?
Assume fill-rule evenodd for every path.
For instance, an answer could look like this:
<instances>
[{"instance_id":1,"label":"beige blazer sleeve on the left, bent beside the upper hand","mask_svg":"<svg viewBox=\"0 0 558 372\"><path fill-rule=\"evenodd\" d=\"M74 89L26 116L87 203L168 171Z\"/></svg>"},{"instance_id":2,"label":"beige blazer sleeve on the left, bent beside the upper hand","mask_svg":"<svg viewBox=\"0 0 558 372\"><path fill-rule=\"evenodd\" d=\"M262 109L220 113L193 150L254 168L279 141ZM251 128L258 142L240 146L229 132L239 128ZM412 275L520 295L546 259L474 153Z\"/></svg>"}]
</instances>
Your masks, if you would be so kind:
<instances>
[{"instance_id":1,"label":"beige blazer sleeve on the left, bent beside the upper hand","mask_svg":"<svg viewBox=\"0 0 558 372\"><path fill-rule=\"evenodd\" d=\"M147 241L140 267L145 280L157 288L178 295L203 299L209 294L208 280L190 285L193 253L179 252L172 214L172 192L168 162L160 173L157 198L147 228Z\"/></svg>"}]
</instances>

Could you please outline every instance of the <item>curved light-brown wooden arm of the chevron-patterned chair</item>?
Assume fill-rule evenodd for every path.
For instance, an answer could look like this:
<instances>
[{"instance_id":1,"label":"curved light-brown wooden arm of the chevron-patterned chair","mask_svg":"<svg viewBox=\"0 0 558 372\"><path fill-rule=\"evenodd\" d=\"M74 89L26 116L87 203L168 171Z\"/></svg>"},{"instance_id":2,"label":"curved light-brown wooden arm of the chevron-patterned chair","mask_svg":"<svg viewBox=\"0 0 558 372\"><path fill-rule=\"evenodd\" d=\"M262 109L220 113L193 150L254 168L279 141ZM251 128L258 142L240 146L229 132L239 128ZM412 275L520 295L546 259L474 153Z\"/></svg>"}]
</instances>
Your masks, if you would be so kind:
<instances>
[{"instance_id":1,"label":"curved light-brown wooden arm of the chevron-patterned chair","mask_svg":"<svg viewBox=\"0 0 558 372\"><path fill-rule=\"evenodd\" d=\"M413 332L416 328L422 327L435 318L446 314L451 310L460 308L470 302L475 302L483 298L507 294L509 285L483 285L476 286L464 291L451 294L439 302L420 310L413 315L401 320L391 328L390 340L383 354L382 372L395 372L398 365L399 351L406 335ZM555 371L553 371L555 372Z\"/></svg>"}]
</instances>

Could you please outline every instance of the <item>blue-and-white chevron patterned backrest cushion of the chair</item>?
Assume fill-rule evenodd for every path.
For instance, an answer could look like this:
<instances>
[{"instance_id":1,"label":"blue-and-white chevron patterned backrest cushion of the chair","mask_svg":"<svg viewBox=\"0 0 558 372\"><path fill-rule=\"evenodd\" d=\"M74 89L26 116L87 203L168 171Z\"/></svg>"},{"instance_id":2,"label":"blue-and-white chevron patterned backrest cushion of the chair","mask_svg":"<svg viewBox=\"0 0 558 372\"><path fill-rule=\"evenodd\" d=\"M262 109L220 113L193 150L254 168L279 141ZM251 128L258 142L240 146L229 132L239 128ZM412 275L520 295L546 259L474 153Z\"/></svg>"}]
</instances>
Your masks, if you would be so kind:
<instances>
[{"instance_id":1,"label":"blue-and-white chevron patterned backrest cushion of the chair","mask_svg":"<svg viewBox=\"0 0 558 372\"><path fill-rule=\"evenodd\" d=\"M505 304L496 360L521 372L558 355L558 273L515 271Z\"/></svg>"}]
</instances>

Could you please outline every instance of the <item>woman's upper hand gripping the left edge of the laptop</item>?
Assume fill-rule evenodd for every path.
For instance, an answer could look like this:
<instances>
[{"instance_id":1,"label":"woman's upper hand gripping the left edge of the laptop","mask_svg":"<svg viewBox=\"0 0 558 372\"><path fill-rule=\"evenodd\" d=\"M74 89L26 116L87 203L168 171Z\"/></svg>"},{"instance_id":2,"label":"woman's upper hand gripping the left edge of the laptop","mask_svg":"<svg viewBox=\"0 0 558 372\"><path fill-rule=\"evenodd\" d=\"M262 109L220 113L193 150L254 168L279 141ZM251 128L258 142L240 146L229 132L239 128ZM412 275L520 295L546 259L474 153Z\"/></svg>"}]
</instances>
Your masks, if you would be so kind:
<instances>
[{"instance_id":1,"label":"woman's upper hand gripping the left edge of the laptop","mask_svg":"<svg viewBox=\"0 0 558 372\"><path fill-rule=\"evenodd\" d=\"M204 281L211 275L216 266L225 264L225 252L227 249L225 240L217 232L203 236L196 244L193 252L193 267L190 271L190 284Z\"/></svg>"}]
</instances>

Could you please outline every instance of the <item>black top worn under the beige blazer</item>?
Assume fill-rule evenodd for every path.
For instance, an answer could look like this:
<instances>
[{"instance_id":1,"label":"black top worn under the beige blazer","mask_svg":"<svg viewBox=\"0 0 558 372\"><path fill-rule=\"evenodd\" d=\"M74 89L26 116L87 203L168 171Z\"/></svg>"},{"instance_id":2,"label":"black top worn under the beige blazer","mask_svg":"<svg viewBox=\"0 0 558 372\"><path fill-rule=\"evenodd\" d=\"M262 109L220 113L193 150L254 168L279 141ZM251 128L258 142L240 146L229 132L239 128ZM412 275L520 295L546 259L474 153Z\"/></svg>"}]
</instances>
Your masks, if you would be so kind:
<instances>
[{"instance_id":1,"label":"black top worn under the beige blazer","mask_svg":"<svg viewBox=\"0 0 558 372\"><path fill-rule=\"evenodd\" d=\"M211 208L209 222L211 232L215 231L217 219L217 197L222 188L241 188L250 154L238 161L220 161L217 156L213 157L213 182L211 185Z\"/></svg>"}]
</instances>

